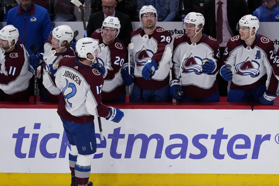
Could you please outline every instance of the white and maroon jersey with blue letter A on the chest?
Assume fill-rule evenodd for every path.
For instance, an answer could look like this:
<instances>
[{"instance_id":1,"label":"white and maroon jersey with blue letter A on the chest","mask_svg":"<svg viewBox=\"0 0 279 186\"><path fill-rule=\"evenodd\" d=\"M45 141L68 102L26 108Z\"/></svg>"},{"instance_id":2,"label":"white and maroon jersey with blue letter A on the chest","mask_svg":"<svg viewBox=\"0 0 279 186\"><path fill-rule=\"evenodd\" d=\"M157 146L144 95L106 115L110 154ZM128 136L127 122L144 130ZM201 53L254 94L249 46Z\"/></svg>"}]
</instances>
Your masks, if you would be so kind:
<instances>
[{"instance_id":1,"label":"white and maroon jersey with blue letter A on the chest","mask_svg":"<svg viewBox=\"0 0 279 186\"><path fill-rule=\"evenodd\" d=\"M223 65L232 66L230 89L250 89L266 84L269 94L276 94L278 80L273 73L276 51L267 37L256 34L252 46L247 46L240 35L232 37L223 56Z\"/></svg>"}]
</instances>

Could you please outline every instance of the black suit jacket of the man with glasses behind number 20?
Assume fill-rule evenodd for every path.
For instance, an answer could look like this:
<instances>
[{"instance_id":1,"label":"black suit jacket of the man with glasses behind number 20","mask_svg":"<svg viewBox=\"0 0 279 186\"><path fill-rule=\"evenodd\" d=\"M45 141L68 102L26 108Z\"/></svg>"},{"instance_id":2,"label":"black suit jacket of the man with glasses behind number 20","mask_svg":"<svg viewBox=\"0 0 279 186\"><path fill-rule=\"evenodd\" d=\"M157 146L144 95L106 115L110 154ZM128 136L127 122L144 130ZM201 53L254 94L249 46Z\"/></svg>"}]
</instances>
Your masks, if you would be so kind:
<instances>
[{"instance_id":1,"label":"black suit jacket of the man with glasses behind number 20","mask_svg":"<svg viewBox=\"0 0 279 186\"><path fill-rule=\"evenodd\" d=\"M117 37L126 47L128 47L128 44L131 42L131 33L133 31L130 16L115 11L115 17L119 19L121 25L120 32ZM103 21L104 13L102 10L91 14L87 24L87 36L90 37L95 30L102 28Z\"/></svg>"}]
</instances>

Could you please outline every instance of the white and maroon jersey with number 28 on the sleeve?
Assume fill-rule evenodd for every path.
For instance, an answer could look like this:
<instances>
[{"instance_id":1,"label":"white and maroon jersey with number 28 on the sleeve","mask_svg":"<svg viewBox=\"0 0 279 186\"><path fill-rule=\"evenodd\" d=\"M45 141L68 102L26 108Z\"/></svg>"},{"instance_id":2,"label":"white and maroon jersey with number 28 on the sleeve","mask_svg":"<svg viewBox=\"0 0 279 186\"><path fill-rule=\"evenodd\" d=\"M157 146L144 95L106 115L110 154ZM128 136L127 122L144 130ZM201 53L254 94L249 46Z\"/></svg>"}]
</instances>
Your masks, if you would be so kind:
<instances>
[{"instance_id":1,"label":"white and maroon jersey with number 28 on the sleeve","mask_svg":"<svg viewBox=\"0 0 279 186\"><path fill-rule=\"evenodd\" d=\"M134 48L130 51L130 62L135 65L134 83L141 89L158 90L169 83L172 37L161 27L156 27L152 35L145 35L142 28L131 33L131 43ZM154 59L158 70L151 80L142 77L142 69L147 60Z\"/></svg>"}]
</instances>

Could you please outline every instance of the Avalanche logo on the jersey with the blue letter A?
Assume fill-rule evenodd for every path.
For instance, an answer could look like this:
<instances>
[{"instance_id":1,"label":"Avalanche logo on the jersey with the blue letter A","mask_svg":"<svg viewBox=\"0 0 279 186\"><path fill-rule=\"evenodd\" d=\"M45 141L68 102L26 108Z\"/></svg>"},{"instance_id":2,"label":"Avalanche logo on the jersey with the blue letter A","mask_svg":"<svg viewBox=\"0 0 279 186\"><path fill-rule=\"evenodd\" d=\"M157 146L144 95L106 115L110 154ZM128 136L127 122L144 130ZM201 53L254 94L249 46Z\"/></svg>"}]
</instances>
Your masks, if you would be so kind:
<instances>
[{"instance_id":1,"label":"Avalanche logo on the jersey with the blue letter A","mask_svg":"<svg viewBox=\"0 0 279 186\"><path fill-rule=\"evenodd\" d=\"M235 65L235 74L239 76L251 76L252 78L255 78L260 75L259 68L260 64L257 61L250 59L248 56L245 61Z\"/></svg>"}]
</instances>

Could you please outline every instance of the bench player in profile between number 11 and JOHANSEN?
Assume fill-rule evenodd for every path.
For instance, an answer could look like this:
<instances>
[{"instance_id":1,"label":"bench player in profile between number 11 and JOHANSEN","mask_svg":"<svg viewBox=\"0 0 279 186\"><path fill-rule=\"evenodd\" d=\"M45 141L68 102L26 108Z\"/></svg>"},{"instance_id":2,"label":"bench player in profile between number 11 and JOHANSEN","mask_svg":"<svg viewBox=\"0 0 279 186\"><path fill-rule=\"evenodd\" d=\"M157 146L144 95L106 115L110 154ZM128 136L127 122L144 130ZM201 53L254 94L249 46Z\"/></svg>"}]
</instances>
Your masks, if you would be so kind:
<instances>
[{"instance_id":1,"label":"bench player in profile between number 11 and JOHANSEN","mask_svg":"<svg viewBox=\"0 0 279 186\"><path fill-rule=\"evenodd\" d=\"M74 32L68 25L57 26L51 31L48 40L44 44L44 53L32 54L29 62L32 66L38 66L38 72L43 68L43 87L40 101L58 103L60 89L55 85L55 73L58 62L63 56L75 56L74 49L70 47ZM40 76L39 76L40 77Z\"/></svg>"}]
</instances>

